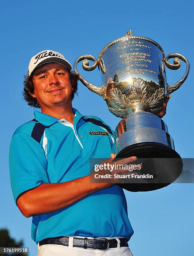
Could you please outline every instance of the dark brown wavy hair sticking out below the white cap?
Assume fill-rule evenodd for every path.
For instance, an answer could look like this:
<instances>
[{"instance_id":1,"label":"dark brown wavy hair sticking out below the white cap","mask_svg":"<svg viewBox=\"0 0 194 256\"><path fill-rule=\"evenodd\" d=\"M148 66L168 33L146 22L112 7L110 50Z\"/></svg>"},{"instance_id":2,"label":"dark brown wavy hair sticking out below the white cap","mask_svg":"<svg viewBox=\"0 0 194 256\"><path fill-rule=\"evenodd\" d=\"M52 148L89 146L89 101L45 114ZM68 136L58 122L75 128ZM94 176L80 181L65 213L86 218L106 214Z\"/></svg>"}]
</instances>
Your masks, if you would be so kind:
<instances>
[{"instance_id":1,"label":"dark brown wavy hair sticking out below the white cap","mask_svg":"<svg viewBox=\"0 0 194 256\"><path fill-rule=\"evenodd\" d=\"M46 64L43 64L38 68L42 68ZM71 95L71 100L73 100L75 93L77 93L78 77L75 73L73 73L69 70L68 70L68 74L69 74L69 78L70 78L70 83L73 87L72 95ZM37 99L32 97L29 92L34 93L33 73L29 77L24 76L24 90L23 90L22 94L24 96L24 99L28 102L28 105L35 107L35 108L40 108L40 105L39 105Z\"/></svg>"}]
</instances>

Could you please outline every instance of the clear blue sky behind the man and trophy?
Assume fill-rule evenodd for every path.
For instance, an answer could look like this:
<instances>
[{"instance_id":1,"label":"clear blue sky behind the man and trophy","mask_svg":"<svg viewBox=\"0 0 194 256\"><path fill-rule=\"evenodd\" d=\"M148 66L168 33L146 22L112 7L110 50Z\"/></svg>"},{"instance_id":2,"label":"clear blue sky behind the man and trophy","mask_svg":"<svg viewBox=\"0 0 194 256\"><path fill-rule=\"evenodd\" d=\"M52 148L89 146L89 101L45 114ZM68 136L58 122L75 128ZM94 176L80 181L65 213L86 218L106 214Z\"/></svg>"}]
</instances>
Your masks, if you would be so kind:
<instances>
[{"instance_id":1,"label":"clear blue sky behind the man and trophy","mask_svg":"<svg viewBox=\"0 0 194 256\"><path fill-rule=\"evenodd\" d=\"M183 158L194 156L194 26L192 1L4 1L0 8L2 118L0 157L2 178L0 228L8 228L15 239L24 239L30 256L36 255L31 237L31 218L25 218L14 204L10 189L8 150L15 129L33 118L35 109L22 99L22 82L30 58L53 49L74 63L82 54L97 58L110 41L133 35L157 41L165 55L173 52L189 59L191 71L182 87L172 94L163 118ZM173 84L184 74L166 68L167 82ZM100 85L98 70L79 70ZM79 83L73 106L82 115L97 115L113 129L120 119L112 115L101 97ZM153 192L126 192L129 219L134 235L129 241L135 256L193 256L194 184L171 184Z\"/></svg>"}]
</instances>

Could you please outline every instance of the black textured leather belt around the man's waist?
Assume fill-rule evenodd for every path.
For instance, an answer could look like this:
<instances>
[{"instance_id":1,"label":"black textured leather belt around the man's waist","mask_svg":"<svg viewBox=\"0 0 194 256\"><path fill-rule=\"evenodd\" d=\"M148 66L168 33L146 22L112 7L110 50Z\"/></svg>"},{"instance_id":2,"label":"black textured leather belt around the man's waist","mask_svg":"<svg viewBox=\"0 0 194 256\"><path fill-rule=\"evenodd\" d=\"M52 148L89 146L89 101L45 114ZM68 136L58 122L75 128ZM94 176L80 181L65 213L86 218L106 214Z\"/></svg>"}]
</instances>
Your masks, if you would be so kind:
<instances>
[{"instance_id":1,"label":"black textured leather belt around the man's waist","mask_svg":"<svg viewBox=\"0 0 194 256\"><path fill-rule=\"evenodd\" d=\"M120 247L128 247L126 238L119 238ZM47 238L40 241L39 246L43 244L59 244L64 246L69 246L69 237L68 236L60 236L55 238ZM91 248L96 250L107 250L109 248L117 248L117 240L116 239L107 239L107 238L73 238L73 246L82 247L82 248Z\"/></svg>"}]
</instances>

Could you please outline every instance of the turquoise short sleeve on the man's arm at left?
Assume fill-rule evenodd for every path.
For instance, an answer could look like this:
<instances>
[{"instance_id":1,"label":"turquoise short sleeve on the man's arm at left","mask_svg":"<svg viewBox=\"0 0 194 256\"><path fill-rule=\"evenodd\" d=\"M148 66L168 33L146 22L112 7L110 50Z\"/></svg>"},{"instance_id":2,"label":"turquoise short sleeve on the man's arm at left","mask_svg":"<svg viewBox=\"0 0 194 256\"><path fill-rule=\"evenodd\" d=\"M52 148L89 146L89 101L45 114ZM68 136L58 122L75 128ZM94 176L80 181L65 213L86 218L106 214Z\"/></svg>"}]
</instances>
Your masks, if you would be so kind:
<instances>
[{"instance_id":1,"label":"turquoise short sleeve on the man's arm at left","mask_svg":"<svg viewBox=\"0 0 194 256\"><path fill-rule=\"evenodd\" d=\"M15 133L10 143L10 181L13 197L42 183L49 183L47 159L41 144L26 133Z\"/></svg>"}]
</instances>

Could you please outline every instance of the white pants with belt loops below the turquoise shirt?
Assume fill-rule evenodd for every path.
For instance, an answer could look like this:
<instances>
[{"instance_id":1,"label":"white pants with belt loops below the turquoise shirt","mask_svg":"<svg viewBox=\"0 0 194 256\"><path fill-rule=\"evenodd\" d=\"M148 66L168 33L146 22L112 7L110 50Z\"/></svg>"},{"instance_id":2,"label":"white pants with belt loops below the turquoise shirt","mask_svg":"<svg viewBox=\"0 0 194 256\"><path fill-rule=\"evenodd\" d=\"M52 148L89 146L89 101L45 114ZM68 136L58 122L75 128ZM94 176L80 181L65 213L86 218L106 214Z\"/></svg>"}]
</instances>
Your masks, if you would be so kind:
<instances>
[{"instance_id":1,"label":"white pants with belt loops below the turquoise shirt","mask_svg":"<svg viewBox=\"0 0 194 256\"><path fill-rule=\"evenodd\" d=\"M117 248L110 248L106 251L73 247L73 237L69 238L69 246L57 244L39 246L38 243L37 256L134 256L128 247L120 247L120 240L118 238L115 239L117 239L118 242Z\"/></svg>"}]
</instances>

